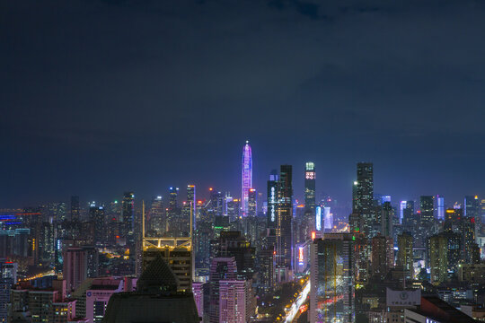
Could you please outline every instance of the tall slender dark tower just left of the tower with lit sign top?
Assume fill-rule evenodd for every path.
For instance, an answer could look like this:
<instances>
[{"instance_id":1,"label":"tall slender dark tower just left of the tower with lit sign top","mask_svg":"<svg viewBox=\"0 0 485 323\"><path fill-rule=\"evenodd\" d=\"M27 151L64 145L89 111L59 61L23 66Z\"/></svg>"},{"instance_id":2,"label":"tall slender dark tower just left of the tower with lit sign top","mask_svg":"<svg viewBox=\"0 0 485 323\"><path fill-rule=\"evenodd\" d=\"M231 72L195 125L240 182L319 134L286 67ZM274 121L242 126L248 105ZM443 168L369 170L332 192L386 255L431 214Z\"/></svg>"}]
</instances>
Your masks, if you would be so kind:
<instances>
[{"instance_id":1,"label":"tall slender dark tower just left of the tower with lit sign top","mask_svg":"<svg viewBox=\"0 0 485 323\"><path fill-rule=\"evenodd\" d=\"M293 269L293 187L291 165L281 165L278 181L278 223L276 229L276 271L278 281L292 277Z\"/></svg>"}]
</instances>

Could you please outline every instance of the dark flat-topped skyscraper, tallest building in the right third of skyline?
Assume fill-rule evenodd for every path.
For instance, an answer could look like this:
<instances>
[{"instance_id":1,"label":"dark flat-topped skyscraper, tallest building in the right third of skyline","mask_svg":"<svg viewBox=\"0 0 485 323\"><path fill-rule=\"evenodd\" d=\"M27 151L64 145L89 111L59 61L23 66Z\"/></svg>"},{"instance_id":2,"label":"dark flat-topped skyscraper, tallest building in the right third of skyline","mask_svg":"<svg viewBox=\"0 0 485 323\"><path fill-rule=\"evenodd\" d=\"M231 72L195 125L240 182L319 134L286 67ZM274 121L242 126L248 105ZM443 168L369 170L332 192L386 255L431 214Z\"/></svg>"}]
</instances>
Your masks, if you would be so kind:
<instances>
[{"instance_id":1,"label":"dark flat-topped skyscraper, tallest building in the right third of skyline","mask_svg":"<svg viewBox=\"0 0 485 323\"><path fill-rule=\"evenodd\" d=\"M372 238L374 214L374 167L372 162L357 163L356 211L362 219L361 231Z\"/></svg>"}]
</instances>

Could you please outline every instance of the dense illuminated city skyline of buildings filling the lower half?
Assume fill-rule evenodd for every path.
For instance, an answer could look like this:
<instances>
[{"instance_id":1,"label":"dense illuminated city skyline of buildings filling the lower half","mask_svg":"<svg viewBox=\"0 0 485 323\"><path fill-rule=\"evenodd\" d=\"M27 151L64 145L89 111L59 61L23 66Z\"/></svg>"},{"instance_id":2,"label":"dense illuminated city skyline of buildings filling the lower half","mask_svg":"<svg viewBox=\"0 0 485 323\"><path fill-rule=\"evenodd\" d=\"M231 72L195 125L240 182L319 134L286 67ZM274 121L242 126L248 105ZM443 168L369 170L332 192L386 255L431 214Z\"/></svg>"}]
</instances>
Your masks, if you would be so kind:
<instances>
[{"instance_id":1,"label":"dense illuminated city skyline of buildings filling the lower half","mask_svg":"<svg viewBox=\"0 0 485 323\"><path fill-rule=\"evenodd\" d=\"M294 321L485 318L485 200L395 204L375 194L374 165L359 162L348 215L317 198L313 162L302 172L303 203L291 165L254 188L246 142L241 196L209 188L202 198L190 184L147 202L128 191L109 203L72 196L3 210L0 322L272 322L291 304L263 300L300 304L304 286Z\"/></svg>"}]
</instances>

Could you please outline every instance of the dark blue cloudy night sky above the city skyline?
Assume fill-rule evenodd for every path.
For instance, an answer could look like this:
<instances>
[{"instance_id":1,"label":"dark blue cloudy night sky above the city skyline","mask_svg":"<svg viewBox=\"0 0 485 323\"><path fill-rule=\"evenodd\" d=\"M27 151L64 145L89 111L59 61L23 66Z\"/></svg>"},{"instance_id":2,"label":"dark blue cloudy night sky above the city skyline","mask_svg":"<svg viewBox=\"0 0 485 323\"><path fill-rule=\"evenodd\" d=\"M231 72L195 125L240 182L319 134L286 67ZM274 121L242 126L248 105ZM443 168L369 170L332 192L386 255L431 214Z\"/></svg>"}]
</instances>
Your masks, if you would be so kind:
<instances>
[{"instance_id":1,"label":"dark blue cloudy night sky above the city skyline","mask_svg":"<svg viewBox=\"0 0 485 323\"><path fill-rule=\"evenodd\" d=\"M0 2L0 207L240 195L485 195L485 1ZM185 193L183 193L185 194Z\"/></svg>"}]
</instances>

